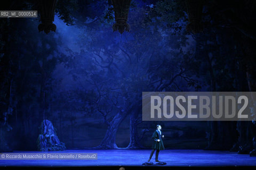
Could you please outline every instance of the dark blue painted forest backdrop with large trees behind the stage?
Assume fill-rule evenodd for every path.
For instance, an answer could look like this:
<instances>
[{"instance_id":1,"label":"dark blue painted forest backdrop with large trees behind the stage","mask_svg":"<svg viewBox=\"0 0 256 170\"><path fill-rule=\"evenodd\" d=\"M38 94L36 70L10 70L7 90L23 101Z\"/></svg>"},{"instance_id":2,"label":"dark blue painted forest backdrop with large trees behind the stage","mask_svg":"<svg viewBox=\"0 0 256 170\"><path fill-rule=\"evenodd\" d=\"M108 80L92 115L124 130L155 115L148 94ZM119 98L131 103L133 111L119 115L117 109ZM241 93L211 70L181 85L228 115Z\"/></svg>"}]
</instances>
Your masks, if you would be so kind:
<instances>
[{"instance_id":1,"label":"dark blue painted forest backdrop with large trees behind the stage","mask_svg":"<svg viewBox=\"0 0 256 170\"><path fill-rule=\"evenodd\" d=\"M49 136L55 149L150 149L161 124L165 148L256 156L254 121L141 117L142 91L256 90L256 1L0 6L38 11L0 19L0 151L40 150Z\"/></svg>"}]
</instances>

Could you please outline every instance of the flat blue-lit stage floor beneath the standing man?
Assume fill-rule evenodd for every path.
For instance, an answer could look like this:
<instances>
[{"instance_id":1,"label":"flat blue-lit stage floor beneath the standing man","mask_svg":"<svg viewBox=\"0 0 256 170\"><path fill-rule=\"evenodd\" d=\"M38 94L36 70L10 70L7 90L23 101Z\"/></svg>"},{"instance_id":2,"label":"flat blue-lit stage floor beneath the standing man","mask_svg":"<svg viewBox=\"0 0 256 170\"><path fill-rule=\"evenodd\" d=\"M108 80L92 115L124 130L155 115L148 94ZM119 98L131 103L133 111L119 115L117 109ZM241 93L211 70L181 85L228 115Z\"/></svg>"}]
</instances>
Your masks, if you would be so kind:
<instances>
[{"instance_id":1,"label":"flat blue-lit stage floor beneath the standing man","mask_svg":"<svg viewBox=\"0 0 256 170\"><path fill-rule=\"evenodd\" d=\"M97 160L0 160L0 166L143 166L150 149L110 149L110 150L65 150L50 153L97 153ZM39 151L13 151L21 153L42 153ZM49 153L49 152L45 152ZM238 155L236 152L212 150L175 150L159 152L158 159L163 166L256 166L256 157ZM155 160L155 153L151 159ZM154 162L155 164L155 162Z\"/></svg>"}]
</instances>

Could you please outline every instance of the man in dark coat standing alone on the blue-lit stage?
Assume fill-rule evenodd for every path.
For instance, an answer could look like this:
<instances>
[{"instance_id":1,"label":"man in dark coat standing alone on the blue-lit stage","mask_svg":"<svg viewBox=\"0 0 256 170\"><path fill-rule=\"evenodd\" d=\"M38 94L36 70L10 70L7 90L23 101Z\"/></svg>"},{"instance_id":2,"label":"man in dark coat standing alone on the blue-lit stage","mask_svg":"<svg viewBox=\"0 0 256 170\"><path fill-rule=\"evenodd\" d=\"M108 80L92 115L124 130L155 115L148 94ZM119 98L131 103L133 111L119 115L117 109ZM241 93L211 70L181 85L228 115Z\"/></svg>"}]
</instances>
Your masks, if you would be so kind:
<instances>
[{"instance_id":1,"label":"man in dark coat standing alone on the blue-lit stage","mask_svg":"<svg viewBox=\"0 0 256 170\"><path fill-rule=\"evenodd\" d=\"M164 150L164 143L162 141L162 138L164 138L164 135L161 132L162 127L161 127L161 125L158 124L158 125L156 125L156 128L157 128L157 130L152 135L152 138L154 139L154 143L152 146L152 151L149 156L148 162L150 161L151 157L153 156L155 150L156 150L156 162L160 162L158 160L159 150Z\"/></svg>"}]
</instances>

